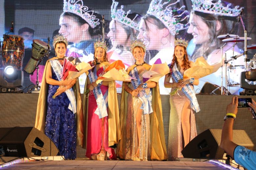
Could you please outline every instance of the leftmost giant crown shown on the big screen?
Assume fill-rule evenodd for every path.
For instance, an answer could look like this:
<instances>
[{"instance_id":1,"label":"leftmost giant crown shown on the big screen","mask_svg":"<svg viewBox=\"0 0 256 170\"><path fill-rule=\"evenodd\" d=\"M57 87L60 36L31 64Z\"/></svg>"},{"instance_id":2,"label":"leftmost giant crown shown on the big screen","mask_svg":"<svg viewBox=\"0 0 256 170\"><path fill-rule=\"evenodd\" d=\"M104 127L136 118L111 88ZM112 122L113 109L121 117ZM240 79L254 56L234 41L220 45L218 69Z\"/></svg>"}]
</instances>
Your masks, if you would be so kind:
<instances>
[{"instance_id":1,"label":"leftmost giant crown shown on the big screen","mask_svg":"<svg viewBox=\"0 0 256 170\"><path fill-rule=\"evenodd\" d=\"M93 15L94 11L83 5L83 0L64 0L63 3L64 12L74 13L82 17L92 28L99 25L99 19Z\"/></svg>"}]
</instances>

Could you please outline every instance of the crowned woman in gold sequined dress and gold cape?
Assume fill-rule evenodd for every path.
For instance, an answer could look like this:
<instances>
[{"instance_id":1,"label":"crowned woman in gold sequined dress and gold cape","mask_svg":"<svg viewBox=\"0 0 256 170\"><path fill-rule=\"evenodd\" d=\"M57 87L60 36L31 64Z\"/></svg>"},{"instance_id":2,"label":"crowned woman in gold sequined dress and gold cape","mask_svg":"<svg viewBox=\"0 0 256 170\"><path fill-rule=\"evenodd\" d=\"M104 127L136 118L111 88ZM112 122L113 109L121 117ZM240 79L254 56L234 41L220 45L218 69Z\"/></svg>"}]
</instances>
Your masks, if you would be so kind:
<instances>
[{"instance_id":1,"label":"crowned woman in gold sequined dress and gold cape","mask_svg":"<svg viewBox=\"0 0 256 170\"><path fill-rule=\"evenodd\" d=\"M151 67L144 62L143 42L132 42L131 51L136 62L127 72L135 79L122 86L117 153L125 160L166 160L159 86L156 82L143 83L142 74Z\"/></svg>"}]
</instances>

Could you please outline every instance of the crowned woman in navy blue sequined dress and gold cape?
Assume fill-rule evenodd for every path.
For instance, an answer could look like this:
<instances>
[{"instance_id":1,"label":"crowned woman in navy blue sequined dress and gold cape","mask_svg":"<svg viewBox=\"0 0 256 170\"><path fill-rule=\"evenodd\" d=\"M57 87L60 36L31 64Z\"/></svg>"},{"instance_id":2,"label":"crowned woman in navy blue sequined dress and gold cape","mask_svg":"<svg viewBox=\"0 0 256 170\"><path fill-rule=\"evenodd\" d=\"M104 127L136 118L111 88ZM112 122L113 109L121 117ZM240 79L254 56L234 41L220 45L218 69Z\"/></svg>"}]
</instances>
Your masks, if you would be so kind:
<instances>
[{"instance_id":1,"label":"crowned woman in navy blue sequined dress and gold cape","mask_svg":"<svg viewBox=\"0 0 256 170\"><path fill-rule=\"evenodd\" d=\"M67 45L68 41L62 35L54 37L53 47L57 56L48 60L44 69L35 127L44 132L54 142L60 155L63 155L65 159L75 159L75 114L81 111L81 100L79 100L81 98L77 96L80 95L79 88L72 89L76 79L62 81ZM79 84L77 87L79 87ZM77 116L79 117L80 114ZM79 131L79 128L77 130ZM82 133L82 129L77 132L79 141L83 138Z\"/></svg>"}]
</instances>

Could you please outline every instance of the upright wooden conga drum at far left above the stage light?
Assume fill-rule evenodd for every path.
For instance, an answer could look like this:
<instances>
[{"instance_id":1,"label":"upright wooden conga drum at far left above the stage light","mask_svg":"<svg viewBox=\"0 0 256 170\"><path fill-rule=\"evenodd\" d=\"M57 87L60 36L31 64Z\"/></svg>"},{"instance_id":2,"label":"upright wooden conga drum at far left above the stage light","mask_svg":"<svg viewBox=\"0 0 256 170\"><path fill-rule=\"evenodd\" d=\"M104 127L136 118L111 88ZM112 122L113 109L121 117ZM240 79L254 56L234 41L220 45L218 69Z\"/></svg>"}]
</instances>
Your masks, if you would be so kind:
<instances>
[{"instance_id":1,"label":"upright wooden conga drum at far left above the stage light","mask_svg":"<svg viewBox=\"0 0 256 170\"><path fill-rule=\"evenodd\" d=\"M18 35L4 35L3 38L3 66L13 66L21 70L24 58L24 39Z\"/></svg>"}]
</instances>

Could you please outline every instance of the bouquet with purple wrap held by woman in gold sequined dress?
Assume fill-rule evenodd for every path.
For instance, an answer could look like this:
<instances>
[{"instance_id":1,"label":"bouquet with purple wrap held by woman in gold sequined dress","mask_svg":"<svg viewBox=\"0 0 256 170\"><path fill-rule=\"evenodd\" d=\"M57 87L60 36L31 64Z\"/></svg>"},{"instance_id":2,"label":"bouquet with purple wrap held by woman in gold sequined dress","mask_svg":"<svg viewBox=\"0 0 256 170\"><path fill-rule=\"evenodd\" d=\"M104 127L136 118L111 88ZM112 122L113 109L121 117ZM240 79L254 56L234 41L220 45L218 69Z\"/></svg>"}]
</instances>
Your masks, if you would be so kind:
<instances>
[{"instance_id":1,"label":"bouquet with purple wrap held by woman in gold sequined dress","mask_svg":"<svg viewBox=\"0 0 256 170\"><path fill-rule=\"evenodd\" d=\"M142 77L143 82L158 82L159 79L170 72L170 68L166 63L161 62L161 59L157 59L156 62L151 66L150 70L146 71Z\"/></svg>"}]
</instances>

